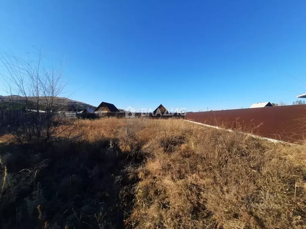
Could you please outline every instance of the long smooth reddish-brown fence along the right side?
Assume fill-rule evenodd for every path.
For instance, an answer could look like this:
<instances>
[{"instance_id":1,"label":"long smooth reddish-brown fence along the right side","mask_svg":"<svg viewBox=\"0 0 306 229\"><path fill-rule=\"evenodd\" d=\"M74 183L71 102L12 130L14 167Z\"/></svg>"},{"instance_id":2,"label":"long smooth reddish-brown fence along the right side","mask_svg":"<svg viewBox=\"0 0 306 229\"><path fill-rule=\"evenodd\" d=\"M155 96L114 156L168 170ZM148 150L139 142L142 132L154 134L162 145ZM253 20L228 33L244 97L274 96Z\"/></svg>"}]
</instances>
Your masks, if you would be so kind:
<instances>
[{"instance_id":1,"label":"long smooth reddish-brown fence along the right side","mask_svg":"<svg viewBox=\"0 0 306 229\"><path fill-rule=\"evenodd\" d=\"M185 119L284 141L306 136L306 105L188 112Z\"/></svg>"}]
</instances>

